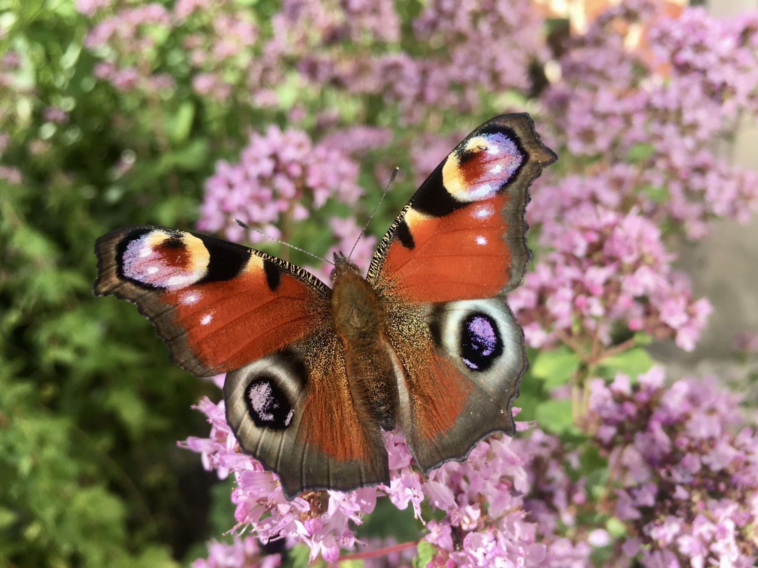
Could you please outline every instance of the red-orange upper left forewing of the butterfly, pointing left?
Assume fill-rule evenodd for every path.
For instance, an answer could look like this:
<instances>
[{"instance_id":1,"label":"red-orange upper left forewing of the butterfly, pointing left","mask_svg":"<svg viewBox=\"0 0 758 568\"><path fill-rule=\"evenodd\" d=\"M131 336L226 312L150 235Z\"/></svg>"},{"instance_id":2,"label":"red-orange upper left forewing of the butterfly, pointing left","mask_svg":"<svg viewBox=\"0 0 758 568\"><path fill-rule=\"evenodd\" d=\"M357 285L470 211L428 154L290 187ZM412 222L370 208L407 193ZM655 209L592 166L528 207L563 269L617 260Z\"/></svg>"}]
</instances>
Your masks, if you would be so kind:
<instances>
[{"instance_id":1,"label":"red-orange upper left forewing of the butterfly, pointing left","mask_svg":"<svg viewBox=\"0 0 758 568\"><path fill-rule=\"evenodd\" d=\"M127 226L102 236L96 295L136 304L196 376L224 373L302 337L329 289L286 261L211 236Z\"/></svg>"}]
</instances>

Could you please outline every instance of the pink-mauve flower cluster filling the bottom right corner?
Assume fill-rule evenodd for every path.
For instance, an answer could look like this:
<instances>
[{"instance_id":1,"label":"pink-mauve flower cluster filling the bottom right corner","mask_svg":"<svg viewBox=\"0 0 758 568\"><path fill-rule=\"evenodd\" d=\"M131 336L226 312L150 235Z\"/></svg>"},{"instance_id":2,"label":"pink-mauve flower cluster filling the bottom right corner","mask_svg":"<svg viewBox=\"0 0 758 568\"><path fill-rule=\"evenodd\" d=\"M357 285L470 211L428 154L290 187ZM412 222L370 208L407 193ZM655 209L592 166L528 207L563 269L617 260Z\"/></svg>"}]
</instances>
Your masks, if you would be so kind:
<instances>
[{"instance_id":1,"label":"pink-mauve flower cluster filling the bottom right corner","mask_svg":"<svg viewBox=\"0 0 758 568\"><path fill-rule=\"evenodd\" d=\"M740 397L716 379L664 388L660 367L636 384L591 384L587 429L606 452L606 498L627 526L619 553L643 566L753 566L758 558L758 438Z\"/></svg>"}]
</instances>

